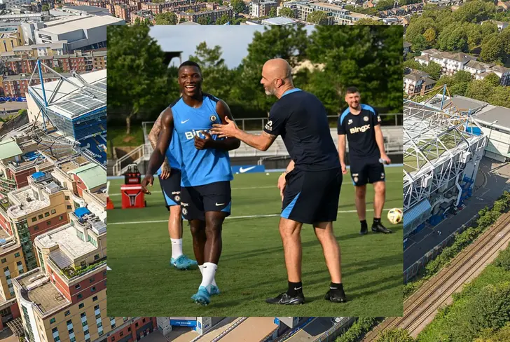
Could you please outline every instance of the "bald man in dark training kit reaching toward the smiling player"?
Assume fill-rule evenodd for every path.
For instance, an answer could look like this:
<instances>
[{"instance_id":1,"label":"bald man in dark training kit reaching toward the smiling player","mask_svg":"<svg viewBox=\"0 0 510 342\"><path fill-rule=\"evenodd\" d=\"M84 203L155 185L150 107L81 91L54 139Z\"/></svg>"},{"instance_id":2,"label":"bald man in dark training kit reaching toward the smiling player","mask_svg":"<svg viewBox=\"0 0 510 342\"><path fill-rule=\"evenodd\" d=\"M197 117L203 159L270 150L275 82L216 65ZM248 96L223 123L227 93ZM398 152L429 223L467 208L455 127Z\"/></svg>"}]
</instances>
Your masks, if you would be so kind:
<instances>
[{"instance_id":1,"label":"bald man in dark training kit reaching toward the smiling player","mask_svg":"<svg viewBox=\"0 0 510 342\"><path fill-rule=\"evenodd\" d=\"M213 134L235 137L261 151L266 151L278 135L282 136L291 156L287 170L278 179L282 196L280 236L287 266L287 292L266 302L296 305L305 302L301 283L301 227L312 224L322 245L331 285L324 299L346 301L340 272L340 247L333 234L342 170L331 138L326 109L317 97L295 88L292 69L286 60L268 60L262 68L261 84L267 95L275 95L269 121L260 135L237 128L226 118L226 125L213 125Z\"/></svg>"}]
</instances>

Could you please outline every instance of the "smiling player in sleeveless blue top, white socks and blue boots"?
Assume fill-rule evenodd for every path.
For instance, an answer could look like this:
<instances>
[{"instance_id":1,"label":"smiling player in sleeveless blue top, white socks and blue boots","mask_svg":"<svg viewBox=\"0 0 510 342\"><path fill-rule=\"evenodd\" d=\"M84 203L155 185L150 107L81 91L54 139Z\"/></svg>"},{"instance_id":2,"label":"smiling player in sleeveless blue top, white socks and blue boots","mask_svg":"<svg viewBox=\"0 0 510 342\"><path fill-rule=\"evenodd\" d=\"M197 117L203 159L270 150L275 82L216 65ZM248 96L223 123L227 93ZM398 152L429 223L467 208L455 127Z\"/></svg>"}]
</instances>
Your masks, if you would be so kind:
<instances>
[{"instance_id":1,"label":"smiling player in sleeveless blue top, white socks and blue boots","mask_svg":"<svg viewBox=\"0 0 510 342\"><path fill-rule=\"evenodd\" d=\"M233 179L228 151L240 146L238 139L217 139L209 134L214 123L233 120L228 105L216 97L202 93L202 71L195 62L179 66L179 88L182 97L161 116L161 132L142 190L153 184L153 173L163 163L172 139L179 142L181 160L181 208L190 222L193 251L202 272L198 292L191 298L202 305L210 302L219 289L214 282L221 256L221 228L230 215L230 181Z\"/></svg>"}]
</instances>

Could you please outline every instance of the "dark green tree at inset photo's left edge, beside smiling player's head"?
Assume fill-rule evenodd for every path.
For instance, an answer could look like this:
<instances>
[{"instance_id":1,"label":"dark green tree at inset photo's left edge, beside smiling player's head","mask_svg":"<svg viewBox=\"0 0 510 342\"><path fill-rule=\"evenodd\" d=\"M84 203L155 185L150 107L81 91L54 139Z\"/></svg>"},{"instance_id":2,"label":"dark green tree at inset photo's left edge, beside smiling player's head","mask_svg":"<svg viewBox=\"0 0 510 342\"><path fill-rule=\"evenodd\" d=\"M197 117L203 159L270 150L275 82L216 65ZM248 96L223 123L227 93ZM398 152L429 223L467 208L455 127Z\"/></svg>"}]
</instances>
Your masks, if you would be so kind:
<instances>
[{"instance_id":1,"label":"dark green tree at inset photo's left edge, beside smiling player's head","mask_svg":"<svg viewBox=\"0 0 510 342\"><path fill-rule=\"evenodd\" d=\"M142 109L160 110L169 101L170 82L164 54L149 27L115 26L108 30L108 114L123 118L126 134ZM172 97L176 94L172 94ZM171 98L171 97L170 97ZM161 105L161 107L159 107Z\"/></svg>"}]
</instances>

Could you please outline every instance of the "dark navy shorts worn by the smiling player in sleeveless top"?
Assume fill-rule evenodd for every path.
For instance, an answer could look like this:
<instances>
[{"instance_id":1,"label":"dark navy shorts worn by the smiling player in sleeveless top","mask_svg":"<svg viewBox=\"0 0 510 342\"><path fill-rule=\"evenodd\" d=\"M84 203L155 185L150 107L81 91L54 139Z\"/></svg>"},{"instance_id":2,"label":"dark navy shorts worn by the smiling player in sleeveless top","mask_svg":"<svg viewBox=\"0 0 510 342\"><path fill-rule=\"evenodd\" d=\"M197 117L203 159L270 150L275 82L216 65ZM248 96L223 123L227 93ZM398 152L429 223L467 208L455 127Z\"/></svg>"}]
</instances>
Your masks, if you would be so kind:
<instances>
[{"instance_id":1,"label":"dark navy shorts worn by the smiling player in sleeveless top","mask_svg":"<svg viewBox=\"0 0 510 342\"><path fill-rule=\"evenodd\" d=\"M215 182L181 188L181 207L184 219L205 221L206 212L226 212L232 205L230 182Z\"/></svg>"}]
</instances>

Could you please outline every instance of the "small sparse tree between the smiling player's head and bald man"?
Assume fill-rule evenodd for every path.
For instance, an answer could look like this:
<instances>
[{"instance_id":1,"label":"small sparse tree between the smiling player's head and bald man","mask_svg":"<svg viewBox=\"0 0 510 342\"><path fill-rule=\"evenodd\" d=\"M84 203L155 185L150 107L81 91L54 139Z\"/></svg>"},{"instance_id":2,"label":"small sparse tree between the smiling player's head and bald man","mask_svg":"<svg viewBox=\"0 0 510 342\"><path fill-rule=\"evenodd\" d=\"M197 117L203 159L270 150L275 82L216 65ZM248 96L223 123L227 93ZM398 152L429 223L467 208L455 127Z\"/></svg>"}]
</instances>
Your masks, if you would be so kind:
<instances>
[{"instance_id":1,"label":"small sparse tree between the smiling player's head and bald man","mask_svg":"<svg viewBox=\"0 0 510 342\"><path fill-rule=\"evenodd\" d=\"M219 98L226 98L234 80L221 55L220 46L209 48L204 41L198 44L195 55L190 56L190 60L200 65L204 78L203 87L207 93L212 93Z\"/></svg>"}]
</instances>

